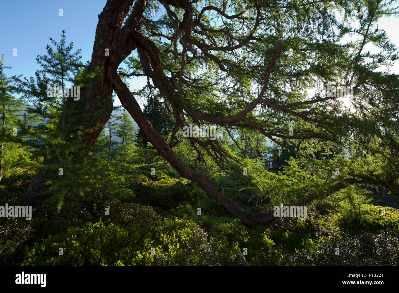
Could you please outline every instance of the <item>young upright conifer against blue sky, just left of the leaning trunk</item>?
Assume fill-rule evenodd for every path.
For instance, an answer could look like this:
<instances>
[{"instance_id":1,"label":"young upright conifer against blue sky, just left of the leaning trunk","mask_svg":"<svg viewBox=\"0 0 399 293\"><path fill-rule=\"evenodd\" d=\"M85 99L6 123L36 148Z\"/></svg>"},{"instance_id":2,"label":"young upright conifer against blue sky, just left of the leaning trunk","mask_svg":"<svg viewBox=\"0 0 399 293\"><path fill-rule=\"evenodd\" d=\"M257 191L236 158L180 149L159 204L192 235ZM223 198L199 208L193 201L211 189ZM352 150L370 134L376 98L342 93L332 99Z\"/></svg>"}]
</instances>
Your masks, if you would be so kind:
<instances>
[{"instance_id":1,"label":"young upright conifer against blue sky, just left of the leaning trunk","mask_svg":"<svg viewBox=\"0 0 399 293\"><path fill-rule=\"evenodd\" d=\"M75 76L82 65L81 50L73 52L73 42L67 45L65 37L63 30L59 42L50 38L51 45L45 48L47 54L36 57L40 69L36 70L35 77L25 77L20 83L26 101L24 131L29 138L26 144L35 155L52 160L54 169L59 169L59 161L69 157L79 147L71 143L71 135L67 132L71 128L68 117L71 116L72 93L78 92ZM65 87L71 85L75 89L67 95Z\"/></svg>"}]
</instances>

